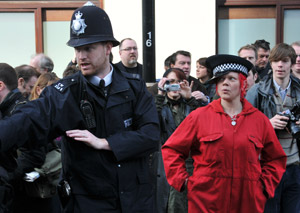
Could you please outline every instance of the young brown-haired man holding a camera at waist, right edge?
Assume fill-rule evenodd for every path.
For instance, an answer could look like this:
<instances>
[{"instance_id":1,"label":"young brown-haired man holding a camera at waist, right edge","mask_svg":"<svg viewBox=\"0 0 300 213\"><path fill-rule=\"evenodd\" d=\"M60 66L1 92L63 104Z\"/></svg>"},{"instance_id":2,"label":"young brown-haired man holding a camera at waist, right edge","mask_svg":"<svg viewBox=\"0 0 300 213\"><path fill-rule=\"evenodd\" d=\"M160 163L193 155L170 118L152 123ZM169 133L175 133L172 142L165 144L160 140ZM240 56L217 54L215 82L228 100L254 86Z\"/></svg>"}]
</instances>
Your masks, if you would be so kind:
<instances>
[{"instance_id":1,"label":"young brown-haired man holding a camera at waist, right edge","mask_svg":"<svg viewBox=\"0 0 300 213\"><path fill-rule=\"evenodd\" d=\"M269 119L287 155L286 172L276 188L275 197L267 201L265 213L300 212L299 101L300 82L291 75L295 64L294 49L277 44L269 57L272 74L254 85L246 99Z\"/></svg>"}]
</instances>

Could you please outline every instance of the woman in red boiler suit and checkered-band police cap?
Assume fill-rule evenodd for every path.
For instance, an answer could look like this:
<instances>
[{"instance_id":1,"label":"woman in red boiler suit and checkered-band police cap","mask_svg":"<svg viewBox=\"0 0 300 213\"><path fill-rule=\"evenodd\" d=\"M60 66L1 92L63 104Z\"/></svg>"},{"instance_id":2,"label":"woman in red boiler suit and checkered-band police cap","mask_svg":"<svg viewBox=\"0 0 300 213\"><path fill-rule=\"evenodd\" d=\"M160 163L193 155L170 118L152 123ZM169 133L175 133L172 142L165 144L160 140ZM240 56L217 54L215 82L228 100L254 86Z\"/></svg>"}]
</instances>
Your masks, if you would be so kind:
<instances>
[{"instance_id":1,"label":"woman in red boiler suit and checkered-band police cap","mask_svg":"<svg viewBox=\"0 0 300 213\"><path fill-rule=\"evenodd\" d=\"M246 99L252 64L231 55L207 59L220 99L193 111L162 148L168 182L188 189L189 212L263 212L286 155L269 119ZM185 159L191 152L194 173Z\"/></svg>"}]
</instances>

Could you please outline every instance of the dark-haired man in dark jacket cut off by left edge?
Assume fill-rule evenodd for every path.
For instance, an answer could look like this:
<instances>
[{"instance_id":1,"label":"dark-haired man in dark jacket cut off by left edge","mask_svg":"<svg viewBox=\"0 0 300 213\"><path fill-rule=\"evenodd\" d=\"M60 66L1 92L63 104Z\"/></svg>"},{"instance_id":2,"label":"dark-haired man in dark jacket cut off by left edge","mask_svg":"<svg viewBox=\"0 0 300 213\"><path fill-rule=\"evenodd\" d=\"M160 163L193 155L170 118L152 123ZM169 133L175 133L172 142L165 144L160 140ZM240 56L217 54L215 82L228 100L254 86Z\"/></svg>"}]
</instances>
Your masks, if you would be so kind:
<instances>
[{"instance_id":1,"label":"dark-haired man in dark jacket cut off by left edge","mask_svg":"<svg viewBox=\"0 0 300 213\"><path fill-rule=\"evenodd\" d=\"M10 117L16 109L27 102L23 94L17 88L18 80L14 68L5 63L0 63L0 119ZM25 212L20 201L24 201L21 183L26 172L32 171L35 167L40 167L45 160L45 149L43 147L31 150L21 147L17 151L11 148L8 152L0 152L1 180L5 182L8 190L5 193L6 201L0 201L4 212L14 209L13 212ZM9 196L13 189L13 195ZM4 199L4 200L5 200ZM10 205L13 200L12 205ZM24 201L25 202L25 201Z\"/></svg>"}]
</instances>

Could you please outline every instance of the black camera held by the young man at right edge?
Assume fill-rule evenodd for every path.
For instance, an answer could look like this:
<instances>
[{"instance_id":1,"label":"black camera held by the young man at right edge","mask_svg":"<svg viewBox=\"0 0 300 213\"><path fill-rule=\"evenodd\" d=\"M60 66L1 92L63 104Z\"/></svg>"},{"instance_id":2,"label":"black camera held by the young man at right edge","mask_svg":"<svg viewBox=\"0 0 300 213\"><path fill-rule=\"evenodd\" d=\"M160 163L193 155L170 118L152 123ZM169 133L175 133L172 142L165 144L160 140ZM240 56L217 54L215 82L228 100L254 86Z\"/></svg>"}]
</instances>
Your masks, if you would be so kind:
<instances>
[{"instance_id":1,"label":"black camera held by the young man at right edge","mask_svg":"<svg viewBox=\"0 0 300 213\"><path fill-rule=\"evenodd\" d=\"M300 102L296 102L291 110L286 110L278 114L289 118L287 124L289 131L292 133L293 138L300 138L300 126L296 124L300 118Z\"/></svg>"}]
</instances>

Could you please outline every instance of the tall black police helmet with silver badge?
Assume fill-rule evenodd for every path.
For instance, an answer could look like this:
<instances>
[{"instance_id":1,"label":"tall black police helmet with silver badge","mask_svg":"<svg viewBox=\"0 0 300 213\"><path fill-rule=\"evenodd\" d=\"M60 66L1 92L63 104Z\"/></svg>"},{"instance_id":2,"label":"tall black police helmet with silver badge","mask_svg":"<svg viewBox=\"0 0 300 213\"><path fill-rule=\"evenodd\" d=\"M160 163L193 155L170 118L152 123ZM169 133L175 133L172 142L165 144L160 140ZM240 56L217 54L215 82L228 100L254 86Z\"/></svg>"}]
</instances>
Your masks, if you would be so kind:
<instances>
[{"instance_id":1,"label":"tall black police helmet with silver badge","mask_svg":"<svg viewBox=\"0 0 300 213\"><path fill-rule=\"evenodd\" d=\"M108 15L91 2L74 11L70 26L70 40L67 45L71 47L101 41L111 41L114 47L119 45L114 38Z\"/></svg>"}]
</instances>

